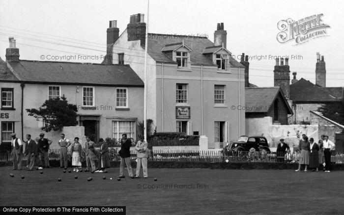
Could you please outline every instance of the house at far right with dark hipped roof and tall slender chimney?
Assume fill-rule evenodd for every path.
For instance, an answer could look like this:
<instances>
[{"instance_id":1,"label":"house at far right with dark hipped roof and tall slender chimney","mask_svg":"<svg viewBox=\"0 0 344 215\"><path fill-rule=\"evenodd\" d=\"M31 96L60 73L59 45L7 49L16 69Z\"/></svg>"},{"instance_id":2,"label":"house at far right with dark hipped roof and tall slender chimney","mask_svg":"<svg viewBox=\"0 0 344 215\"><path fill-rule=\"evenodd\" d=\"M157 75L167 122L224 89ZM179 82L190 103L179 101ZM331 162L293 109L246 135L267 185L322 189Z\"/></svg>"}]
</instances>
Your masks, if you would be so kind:
<instances>
[{"instance_id":1,"label":"house at far right with dark hipped roof and tall slender chimney","mask_svg":"<svg viewBox=\"0 0 344 215\"><path fill-rule=\"evenodd\" d=\"M301 78L296 80L296 73L290 84L290 100L294 109L294 116L289 119L294 124L309 124L312 118L311 110L317 110L322 105L343 102L343 87L326 87L326 67L324 56L317 53L315 66L315 84Z\"/></svg>"}]
</instances>

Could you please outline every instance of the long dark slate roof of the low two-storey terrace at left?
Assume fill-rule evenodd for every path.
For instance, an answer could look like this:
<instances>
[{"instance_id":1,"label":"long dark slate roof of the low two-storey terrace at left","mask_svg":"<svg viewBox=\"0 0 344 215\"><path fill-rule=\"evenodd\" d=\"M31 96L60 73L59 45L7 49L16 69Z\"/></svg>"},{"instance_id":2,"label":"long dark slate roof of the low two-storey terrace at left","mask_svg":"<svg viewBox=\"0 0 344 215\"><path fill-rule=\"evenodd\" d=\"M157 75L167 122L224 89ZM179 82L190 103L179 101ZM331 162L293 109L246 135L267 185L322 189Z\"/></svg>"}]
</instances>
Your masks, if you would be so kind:
<instances>
[{"instance_id":1,"label":"long dark slate roof of the low two-storey terrace at left","mask_svg":"<svg viewBox=\"0 0 344 215\"><path fill-rule=\"evenodd\" d=\"M129 65L31 60L8 63L24 82L143 87L143 81Z\"/></svg>"}]
</instances>

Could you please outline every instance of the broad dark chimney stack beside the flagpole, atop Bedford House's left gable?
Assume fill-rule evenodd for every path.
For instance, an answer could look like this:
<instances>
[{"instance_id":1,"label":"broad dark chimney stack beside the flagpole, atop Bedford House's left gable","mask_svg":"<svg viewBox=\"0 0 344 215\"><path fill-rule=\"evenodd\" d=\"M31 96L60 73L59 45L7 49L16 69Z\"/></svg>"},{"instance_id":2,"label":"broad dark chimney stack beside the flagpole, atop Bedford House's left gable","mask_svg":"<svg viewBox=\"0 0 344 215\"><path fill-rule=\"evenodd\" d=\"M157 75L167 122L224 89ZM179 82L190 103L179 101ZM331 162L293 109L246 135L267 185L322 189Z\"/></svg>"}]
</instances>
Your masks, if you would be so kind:
<instances>
[{"instance_id":1,"label":"broad dark chimney stack beside the flagpole, atop Bedford House's left gable","mask_svg":"<svg viewBox=\"0 0 344 215\"><path fill-rule=\"evenodd\" d=\"M144 14L138 13L130 16L130 23L127 25L128 41L140 40L141 46L145 44L146 24Z\"/></svg>"}]
</instances>

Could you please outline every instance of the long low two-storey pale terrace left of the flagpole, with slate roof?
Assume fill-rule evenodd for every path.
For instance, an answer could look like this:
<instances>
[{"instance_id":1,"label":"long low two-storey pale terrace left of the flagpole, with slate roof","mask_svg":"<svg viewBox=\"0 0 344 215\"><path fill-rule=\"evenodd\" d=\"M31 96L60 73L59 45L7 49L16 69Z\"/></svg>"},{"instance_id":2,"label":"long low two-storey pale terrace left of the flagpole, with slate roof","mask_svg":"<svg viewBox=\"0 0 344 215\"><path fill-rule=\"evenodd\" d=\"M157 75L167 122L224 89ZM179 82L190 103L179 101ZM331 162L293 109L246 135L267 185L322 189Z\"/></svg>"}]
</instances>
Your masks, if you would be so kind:
<instances>
[{"instance_id":1,"label":"long low two-storey pale terrace left of the flagpole, with slate roof","mask_svg":"<svg viewBox=\"0 0 344 215\"><path fill-rule=\"evenodd\" d=\"M137 138L144 85L129 65L21 60L14 38L9 42L6 61L0 59L1 143L9 142L13 132L23 138L42 127L44 122L26 109L61 96L77 106L79 125L92 140L122 133Z\"/></svg>"}]
</instances>

